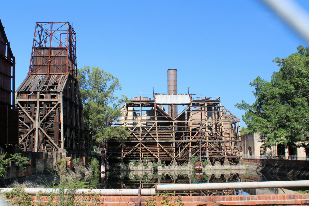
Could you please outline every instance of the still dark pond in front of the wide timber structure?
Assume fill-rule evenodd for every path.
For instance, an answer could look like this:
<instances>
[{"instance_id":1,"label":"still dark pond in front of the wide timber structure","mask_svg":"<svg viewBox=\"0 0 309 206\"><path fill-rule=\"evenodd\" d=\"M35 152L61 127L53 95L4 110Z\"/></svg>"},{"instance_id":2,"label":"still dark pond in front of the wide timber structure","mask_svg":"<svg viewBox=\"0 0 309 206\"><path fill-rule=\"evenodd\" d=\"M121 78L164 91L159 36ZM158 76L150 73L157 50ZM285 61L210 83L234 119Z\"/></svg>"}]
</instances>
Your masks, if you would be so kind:
<instances>
[{"instance_id":1,"label":"still dark pond in front of the wide timber structure","mask_svg":"<svg viewBox=\"0 0 309 206\"><path fill-rule=\"evenodd\" d=\"M122 171L106 172L105 178L92 176L86 178L82 185L94 188L153 188L155 184L185 184L185 183L232 183L232 182L257 182L257 181L283 181L300 180L290 177L263 174L256 171L244 172L243 170L210 170L203 172L194 171ZM306 188L292 188L292 190L305 190ZM308 188L307 188L308 189ZM290 189L289 189L290 190ZM269 189L244 189L244 190L209 190L209 191L183 191L176 195L260 195L282 194L290 192L281 188Z\"/></svg>"}]
</instances>

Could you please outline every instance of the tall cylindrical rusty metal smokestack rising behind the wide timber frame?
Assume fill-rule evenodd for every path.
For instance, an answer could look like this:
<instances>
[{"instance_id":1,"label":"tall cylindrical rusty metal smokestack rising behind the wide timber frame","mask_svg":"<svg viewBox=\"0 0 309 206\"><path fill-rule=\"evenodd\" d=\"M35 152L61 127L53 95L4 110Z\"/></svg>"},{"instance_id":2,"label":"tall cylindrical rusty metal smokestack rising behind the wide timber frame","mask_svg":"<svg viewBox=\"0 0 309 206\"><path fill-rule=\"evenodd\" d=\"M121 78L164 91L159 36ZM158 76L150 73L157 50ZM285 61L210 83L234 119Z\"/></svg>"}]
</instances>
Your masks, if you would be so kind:
<instances>
[{"instance_id":1,"label":"tall cylindrical rusty metal smokestack rising behind the wide timber frame","mask_svg":"<svg viewBox=\"0 0 309 206\"><path fill-rule=\"evenodd\" d=\"M177 94L177 69L167 69L167 94ZM174 118L177 114L177 105L168 106L169 116Z\"/></svg>"}]
</instances>

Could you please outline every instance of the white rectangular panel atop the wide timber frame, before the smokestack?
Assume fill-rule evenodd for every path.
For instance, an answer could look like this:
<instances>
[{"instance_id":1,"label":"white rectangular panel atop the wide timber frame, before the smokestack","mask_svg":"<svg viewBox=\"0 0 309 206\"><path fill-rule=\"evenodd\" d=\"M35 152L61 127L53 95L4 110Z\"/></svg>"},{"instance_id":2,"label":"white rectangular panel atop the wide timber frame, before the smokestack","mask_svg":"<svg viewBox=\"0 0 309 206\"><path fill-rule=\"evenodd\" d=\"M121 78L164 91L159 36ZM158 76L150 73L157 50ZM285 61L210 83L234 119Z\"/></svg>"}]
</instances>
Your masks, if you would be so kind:
<instances>
[{"instance_id":1,"label":"white rectangular panel atop the wide timber frame, before the smokestack","mask_svg":"<svg viewBox=\"0 0 309 206\"><path fill-rule=\"evenodd\" d=\"M158 104L189 104L188 94L155 94L155 102Z\"/></svg>"}]
</instances>

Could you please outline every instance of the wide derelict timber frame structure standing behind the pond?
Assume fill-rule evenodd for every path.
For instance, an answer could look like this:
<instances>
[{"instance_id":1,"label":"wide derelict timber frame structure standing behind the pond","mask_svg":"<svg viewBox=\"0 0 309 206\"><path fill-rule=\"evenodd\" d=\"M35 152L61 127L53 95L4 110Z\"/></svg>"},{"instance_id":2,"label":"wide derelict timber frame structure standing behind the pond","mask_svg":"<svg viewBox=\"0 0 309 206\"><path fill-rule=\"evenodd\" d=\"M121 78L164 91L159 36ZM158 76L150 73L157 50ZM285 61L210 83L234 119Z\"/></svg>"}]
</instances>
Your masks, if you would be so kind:
<instances>
[{"instance_id":1,"label":"wide derelict timber frame structure standing behind the pond","mask_svg":"<svg viewBox=\"0 0 309 206\"><path fill-rule=\"evenodd\" d=\"M181 165L195 157L214 165L238 164L239 119L222 106L220 97L195 94L153 94L132 98L121 108L122 117L111 126L124 126L130 137L124 144L109 139L106 158L111 161L165 161ZM163 106L184 105L172 118Z\"/></svg>"}]
</instances>

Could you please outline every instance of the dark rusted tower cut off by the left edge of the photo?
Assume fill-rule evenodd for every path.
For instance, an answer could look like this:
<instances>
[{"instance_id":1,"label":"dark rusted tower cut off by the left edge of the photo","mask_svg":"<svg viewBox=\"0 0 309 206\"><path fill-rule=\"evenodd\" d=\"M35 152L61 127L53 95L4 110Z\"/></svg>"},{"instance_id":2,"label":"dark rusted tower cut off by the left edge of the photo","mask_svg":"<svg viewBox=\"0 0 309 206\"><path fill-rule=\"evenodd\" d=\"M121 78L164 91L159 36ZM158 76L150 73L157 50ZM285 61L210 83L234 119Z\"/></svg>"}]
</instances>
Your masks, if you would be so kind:
<instances>
[{"instance_id":1,"label":"dark rusted tower cut off by the left edge of the photo","mask_svg":"<svg viewBox=\"0 0 309 206\"><path fill-rule=\"evenodd\" d=\"M0 20L0 145L18 144L15 110L15 57Z\"/></svg>"}]
</instances>

